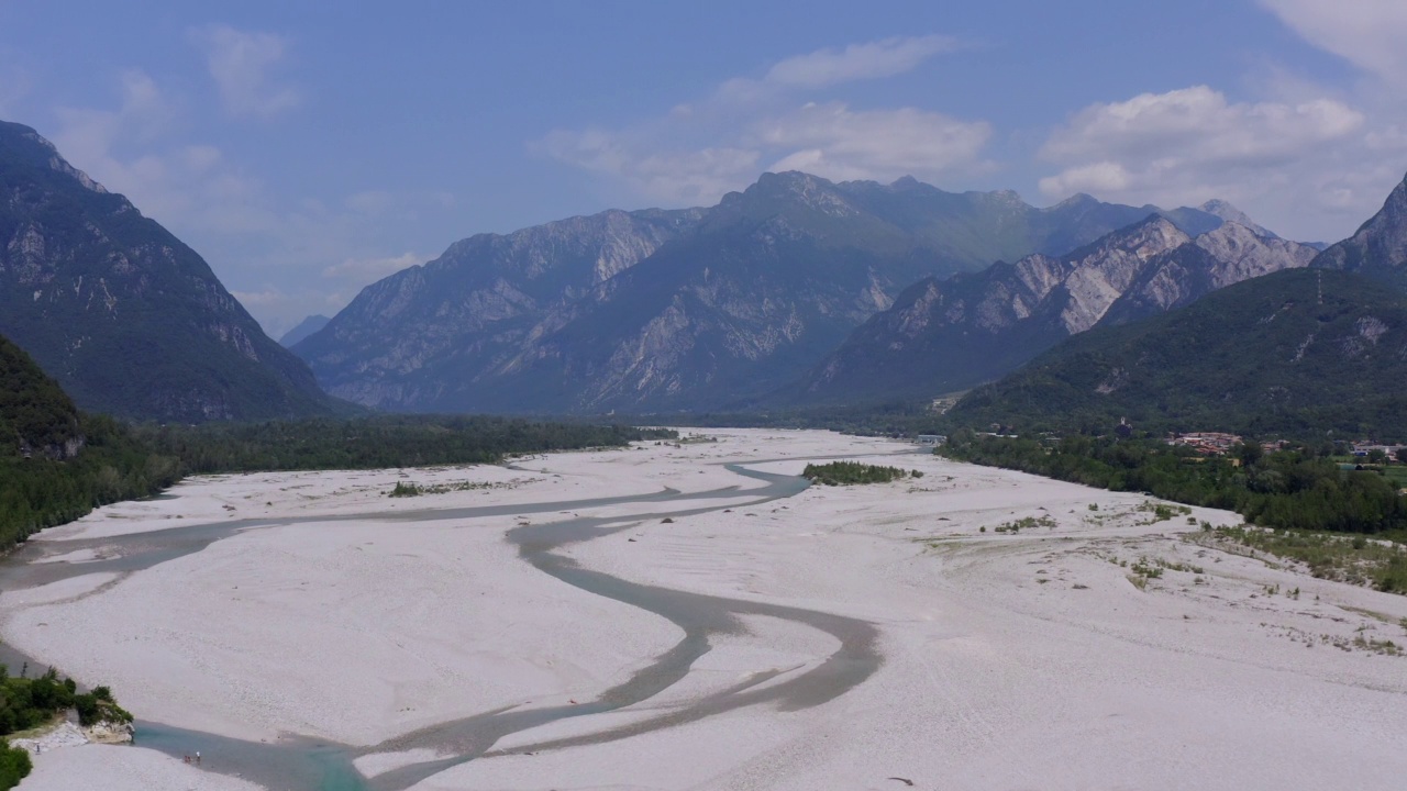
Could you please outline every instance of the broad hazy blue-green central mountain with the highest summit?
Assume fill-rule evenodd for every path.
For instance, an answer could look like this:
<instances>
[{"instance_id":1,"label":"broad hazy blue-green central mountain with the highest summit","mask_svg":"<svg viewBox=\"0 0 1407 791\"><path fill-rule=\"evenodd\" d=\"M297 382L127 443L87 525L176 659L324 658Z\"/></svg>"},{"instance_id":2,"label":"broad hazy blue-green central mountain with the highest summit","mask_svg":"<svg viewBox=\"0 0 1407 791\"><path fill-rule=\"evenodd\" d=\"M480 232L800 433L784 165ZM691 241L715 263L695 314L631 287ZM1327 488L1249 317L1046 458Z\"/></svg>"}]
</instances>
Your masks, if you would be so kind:
<instances>
[{"instance_id":1,"label":"broad hazy blue-green central mountain with the highest summit","mask_svg":"<svg viewBox=\"0 0 1407 791\"><path fill-rule=\"evenodd\" d=\"M722 407L795 380L920 277L1062 255L1151 211L768 173L708 210L464 239L295 350L331 393L391 410ZM1192 232L1223 222L1166 214Z\"/></svg>"}]
</instances>

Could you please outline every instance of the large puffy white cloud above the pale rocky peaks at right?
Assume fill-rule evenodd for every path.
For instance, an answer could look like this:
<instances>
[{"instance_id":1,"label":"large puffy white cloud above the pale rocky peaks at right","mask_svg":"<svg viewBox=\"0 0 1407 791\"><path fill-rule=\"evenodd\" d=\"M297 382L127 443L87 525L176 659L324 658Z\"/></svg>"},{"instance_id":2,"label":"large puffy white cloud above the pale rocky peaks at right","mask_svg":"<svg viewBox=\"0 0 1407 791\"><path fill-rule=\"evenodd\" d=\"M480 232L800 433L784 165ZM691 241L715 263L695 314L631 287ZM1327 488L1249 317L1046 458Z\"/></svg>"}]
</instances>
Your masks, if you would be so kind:
<instances>
[{"instance_id":1,"label":"large puffy white cloud above the pale rocky peaks at right","mask_svg":"<svg viewBox=\"0 0 1407 791\"><path fill-rule=\"evenodd\" d=\"M1040 151L1059 169L1040 189L1135 205L1218 197L1292 238L1334 241L1377 210L1403 156L1407 135L1345 101L1228 101L1195 86L1076 113Z\"/></svg>"}]
</instances>

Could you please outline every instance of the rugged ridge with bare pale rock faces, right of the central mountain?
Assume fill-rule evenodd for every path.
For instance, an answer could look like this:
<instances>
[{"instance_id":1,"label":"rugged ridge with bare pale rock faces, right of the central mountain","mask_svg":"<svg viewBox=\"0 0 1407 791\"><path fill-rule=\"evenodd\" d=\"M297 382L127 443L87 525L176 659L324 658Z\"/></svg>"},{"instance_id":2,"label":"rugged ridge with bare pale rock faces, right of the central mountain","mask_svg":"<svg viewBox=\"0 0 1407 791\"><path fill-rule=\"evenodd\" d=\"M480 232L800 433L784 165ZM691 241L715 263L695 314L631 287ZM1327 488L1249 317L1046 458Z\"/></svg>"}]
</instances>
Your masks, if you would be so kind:
<instances>
[{"instance_id":1,"label":"rugged ridge with bare pale rock faces, right of the central mountain","mask_svg":"<svg viewBox=\"0 0 1407 791\"><path fill-rule=\"evenodd\" d=\"M1031 255L919 281L775 400L855 403L964 390L1092 327L1159 314L1248 277L1303 267L1313 256L1235 222L1193 238L1151 215L1065 256Z\"/></svg>"}]
</instances>

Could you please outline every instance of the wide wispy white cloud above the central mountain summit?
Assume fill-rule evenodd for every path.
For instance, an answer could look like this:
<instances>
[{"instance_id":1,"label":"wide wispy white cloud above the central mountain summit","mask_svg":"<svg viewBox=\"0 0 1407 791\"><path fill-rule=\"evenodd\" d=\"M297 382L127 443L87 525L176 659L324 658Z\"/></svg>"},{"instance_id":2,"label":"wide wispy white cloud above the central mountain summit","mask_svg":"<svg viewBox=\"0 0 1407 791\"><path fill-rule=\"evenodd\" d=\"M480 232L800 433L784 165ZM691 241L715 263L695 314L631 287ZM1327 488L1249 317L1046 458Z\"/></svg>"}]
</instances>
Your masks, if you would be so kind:
<instances>
[{"instance_id":1,"label":"wide wispy white cloud above the central mountain summit","mask_svg":"<svg viewBox=\"0 0 1407 791\"><path fill-rule=\"evenodd\" d=\"M733 79L696 104L623 129L559 129L532 148L650 200L713 203L763 169L830 179L941 179L982 170L991 125L913 107L855 110L791 94L908 72L957 42L927 35L822 49Z\"/></svg>"}]
</instances>

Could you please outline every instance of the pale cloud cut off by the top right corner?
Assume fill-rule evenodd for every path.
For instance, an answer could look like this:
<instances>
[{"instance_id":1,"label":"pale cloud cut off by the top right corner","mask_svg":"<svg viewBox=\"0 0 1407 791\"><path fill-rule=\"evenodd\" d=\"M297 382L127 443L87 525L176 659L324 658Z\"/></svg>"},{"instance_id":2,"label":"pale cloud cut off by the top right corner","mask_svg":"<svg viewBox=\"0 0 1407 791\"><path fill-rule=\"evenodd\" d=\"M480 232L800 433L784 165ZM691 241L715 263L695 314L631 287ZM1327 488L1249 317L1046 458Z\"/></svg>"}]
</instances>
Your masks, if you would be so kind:
<instances>
[{"instance_id":1,"label":"pale cloud cut off by the top right corner","mask_svg":"<svg viewBox=\"0 0 1407 791\"><path fill-rule=\"evenodd\" d=\"M1389 83L1407 84L1403 0L1261 0L1306 41Z\"/></svg>"}]
</instances>

